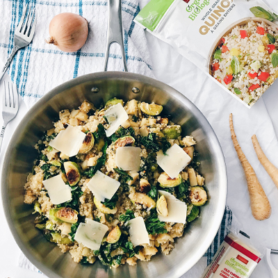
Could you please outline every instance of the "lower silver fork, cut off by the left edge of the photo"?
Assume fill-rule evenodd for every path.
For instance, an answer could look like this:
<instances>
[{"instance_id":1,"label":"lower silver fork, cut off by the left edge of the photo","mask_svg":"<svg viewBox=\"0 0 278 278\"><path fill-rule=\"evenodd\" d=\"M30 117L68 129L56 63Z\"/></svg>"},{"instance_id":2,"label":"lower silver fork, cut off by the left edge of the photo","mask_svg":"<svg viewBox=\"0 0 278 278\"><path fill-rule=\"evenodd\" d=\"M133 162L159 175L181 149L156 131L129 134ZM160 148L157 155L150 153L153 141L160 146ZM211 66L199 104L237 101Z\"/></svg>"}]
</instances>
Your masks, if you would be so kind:
<instances>
[{"instance_id":1,"label":"lower silver fork, cut off by the left edge of the photo","mask_svg":"<svg viewBox=\"0 0 278 278\"><path fill-rule=\"evenodd\" d=\"M1 150L2 140L3 140L6 126L11 120L13 120L15 115L17 115L17 111L18 111L17 87L10 82L8 82L8 85L6 85L6 82L4 81L4 88L5 88L5 92L3 93L3 101L2 101L3 126L0 133L0 150Z\"/></svg>"}]
</instances>

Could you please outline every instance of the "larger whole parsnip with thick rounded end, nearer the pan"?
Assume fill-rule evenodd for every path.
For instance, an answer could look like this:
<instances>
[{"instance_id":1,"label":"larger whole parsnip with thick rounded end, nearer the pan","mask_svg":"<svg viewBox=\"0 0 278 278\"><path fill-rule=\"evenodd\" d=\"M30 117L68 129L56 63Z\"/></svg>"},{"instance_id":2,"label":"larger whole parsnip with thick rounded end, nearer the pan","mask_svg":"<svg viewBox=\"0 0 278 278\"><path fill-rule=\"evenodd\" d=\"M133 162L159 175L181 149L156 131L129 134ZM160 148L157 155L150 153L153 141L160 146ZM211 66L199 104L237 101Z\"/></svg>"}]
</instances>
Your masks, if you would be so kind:
<instances>
[{"instance_id":1,"label":"larger whole parsnip with thick rounded end, nearer the pan","mask_svg":"<svg viewBox=\"0 0 278 278\"><path fill-rule=\"evenodd\" d=\"M243 151L240 148L240 145L238 144L238 140L236 139L236 133L234 131L232 114L230 114L229 123L231 129L231 140L233 140L234 148L236 149L236 153L238 154L238 159L241 165L243 166L243 170L245 172L247 187L250 195L252 215L256 220L265 220L269 218L271 214L270 202L268 201L268 197L266 197L265 192L261 187L261 183L256 177L254 169L247 161L245 154L243 154Z\"/></svg>"}]
</instances>

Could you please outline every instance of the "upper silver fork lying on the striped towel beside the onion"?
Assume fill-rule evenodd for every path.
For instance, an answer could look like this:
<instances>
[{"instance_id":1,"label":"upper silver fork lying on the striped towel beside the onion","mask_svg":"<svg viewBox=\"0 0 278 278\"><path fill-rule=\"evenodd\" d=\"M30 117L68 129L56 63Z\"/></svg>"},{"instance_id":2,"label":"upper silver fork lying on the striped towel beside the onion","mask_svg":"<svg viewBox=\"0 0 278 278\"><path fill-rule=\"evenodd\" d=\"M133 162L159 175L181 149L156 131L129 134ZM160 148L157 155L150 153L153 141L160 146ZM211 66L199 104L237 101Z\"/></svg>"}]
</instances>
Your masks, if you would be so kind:
<instances>
[{"instance_id":1,"label":"upper silver fork lying on the striped towel beside the onion","mask_svg":"<svg viewBox=\"0 0 278 278\"><path fill-rule=\"evenodd\" d=\"M37 17L35 17L35 11L33 11L31 14L31 8L28 9L28 14L26 16L26 10L27 5L24 7L22 18L20 19L20 22L15 29L15 46L13 47L12 53L10 54L10 57L4 65L3 70L1 70L0 72L0 81L6 70L8 69L10 62L13 60L13 56L15 56L15 54L17 53L17 50L21 49L22 47L26 47L33 40L35 25L37 24Z\"/></svg>"}]
</instances>

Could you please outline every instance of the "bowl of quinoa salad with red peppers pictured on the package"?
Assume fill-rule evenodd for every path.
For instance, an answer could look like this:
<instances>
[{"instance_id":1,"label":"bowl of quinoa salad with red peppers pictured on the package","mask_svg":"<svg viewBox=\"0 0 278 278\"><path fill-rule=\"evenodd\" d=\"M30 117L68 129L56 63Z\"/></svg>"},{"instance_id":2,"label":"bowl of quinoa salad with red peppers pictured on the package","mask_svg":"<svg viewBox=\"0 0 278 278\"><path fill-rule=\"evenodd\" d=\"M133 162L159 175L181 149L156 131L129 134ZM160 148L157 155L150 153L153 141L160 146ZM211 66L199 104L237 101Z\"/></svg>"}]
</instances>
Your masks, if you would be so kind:
<instances>
[{"instance_id":1,"label":"bowl of quinoa salad with red peppers pictured on the package","mask_svg":"<svg viewBox=\"0 0 278 278\"><path fill-rule=\"evenodd\" d=\"M277 35L265 22L235 26L215 49L211 75L252 106L278 77Z\"/></svg>"}]
</instances>

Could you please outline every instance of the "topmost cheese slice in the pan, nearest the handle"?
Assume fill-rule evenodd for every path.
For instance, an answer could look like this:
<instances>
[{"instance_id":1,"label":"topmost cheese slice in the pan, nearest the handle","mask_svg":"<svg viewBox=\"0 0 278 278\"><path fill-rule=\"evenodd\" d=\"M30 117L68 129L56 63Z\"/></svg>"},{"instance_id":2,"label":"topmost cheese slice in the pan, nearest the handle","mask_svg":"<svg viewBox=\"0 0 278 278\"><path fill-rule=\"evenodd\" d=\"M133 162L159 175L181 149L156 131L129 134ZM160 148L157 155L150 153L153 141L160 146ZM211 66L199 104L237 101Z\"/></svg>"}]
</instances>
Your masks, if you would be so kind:
<instances>
[{"instance_id":1,"label":"topmost cheese slice in the pan, nearest the handle","mask_svg":"<svg viewBox=\"0 0 278 278\"><path fill-rule=\"evenodd\" d=\"M108 108L104 112L104 116L110 124L109 128L105 131L107 137L110 137L113 133L115 133L115 131L117 131L121 124L123 124L126 120L129 120L129 115L127 115L124 107L122 107L122 104L115 104L111 106L111 108Z\"/></svg>"}]
</instances>

